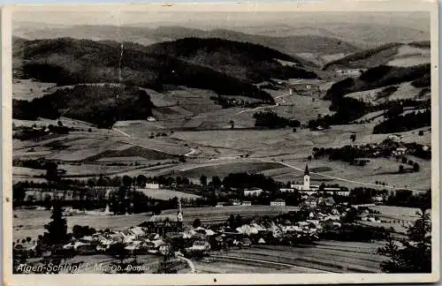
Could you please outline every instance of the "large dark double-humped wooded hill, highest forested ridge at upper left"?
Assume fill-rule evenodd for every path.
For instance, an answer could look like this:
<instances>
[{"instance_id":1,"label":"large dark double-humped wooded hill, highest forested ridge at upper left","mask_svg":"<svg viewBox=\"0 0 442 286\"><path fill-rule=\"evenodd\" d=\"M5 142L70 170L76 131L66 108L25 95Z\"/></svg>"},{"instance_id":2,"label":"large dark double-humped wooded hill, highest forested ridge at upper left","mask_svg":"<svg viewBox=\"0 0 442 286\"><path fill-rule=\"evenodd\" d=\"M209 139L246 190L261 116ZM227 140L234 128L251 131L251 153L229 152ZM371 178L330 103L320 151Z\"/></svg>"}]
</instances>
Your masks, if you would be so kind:
<instances>
[{"instance_id":1,"label":"large dark double-humped wooded hill, highest forested ridge at upper left","mask_svg":"<svg viewBox=\"0 0 442 286\"><path fill-rule=\"evenodd\" d=\"M122 49L123 47L123 49ZM316 78L302 66L278 62L296 60L274 49L240 41L187 38L149 47L117 41L59 38L14 39L14 73L20 78L59 86L115 83L162 91L165 86L210 89L273 103L255 87L265 79Z\"/></svg>"}]
</instances>

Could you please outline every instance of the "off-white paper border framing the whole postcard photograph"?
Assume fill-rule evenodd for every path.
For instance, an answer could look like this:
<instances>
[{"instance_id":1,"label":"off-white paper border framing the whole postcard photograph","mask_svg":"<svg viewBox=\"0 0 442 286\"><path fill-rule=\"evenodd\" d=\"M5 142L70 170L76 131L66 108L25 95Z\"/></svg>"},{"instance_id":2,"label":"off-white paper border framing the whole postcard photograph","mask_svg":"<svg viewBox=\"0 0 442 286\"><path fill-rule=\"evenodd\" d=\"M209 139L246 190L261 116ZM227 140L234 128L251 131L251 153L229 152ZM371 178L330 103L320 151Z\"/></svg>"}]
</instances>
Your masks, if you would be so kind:
<instances>
[{"instance_id":1,"label":"off-white paper border framing the whole postcard photograph","mask_svg":"<svg viewBox=\"0 0 442 286\"><path fill-rule=\"evenodd\" d=\"M403 274L248 274L248 275L12 275L11 207L11 11L431 11L431 190L432 273ZM438 282L439 280L439 125L438 3L433 1L329 1L322 3L241 4L81 4L15 5L2 9L2 166L4 283L6 285L225 285Z\"/></svg>"}]
</instances>

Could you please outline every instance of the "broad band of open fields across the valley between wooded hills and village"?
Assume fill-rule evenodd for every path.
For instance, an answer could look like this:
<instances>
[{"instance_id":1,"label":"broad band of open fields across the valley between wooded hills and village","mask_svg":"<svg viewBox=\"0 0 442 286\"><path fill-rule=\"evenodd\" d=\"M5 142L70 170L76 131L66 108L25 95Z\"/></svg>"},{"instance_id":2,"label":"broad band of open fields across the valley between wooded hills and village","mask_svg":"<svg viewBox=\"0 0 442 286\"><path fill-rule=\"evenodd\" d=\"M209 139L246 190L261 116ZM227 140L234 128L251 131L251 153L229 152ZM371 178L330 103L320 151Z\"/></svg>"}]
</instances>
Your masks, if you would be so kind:
<instances>
[{"instance_id":1,"label":"broad band of open fields across the valley between wooded hills and village","mask_svg":"<svg viewBox=\"0 0 442 286\"><path fill-rule=\"evenodd\" d=\"M241 115L245 115L242 113ZM300 169L309 163L310 168L323 168L318 171L332 177L342 177L374 184L383 181L396 185L425 190L430 186L431 162L416 160L421 170L415 174L397 174L399 162L387 159L370 159L365 167L355 167L344 162L330 162L327 159L309 162L307 157L313 147L342 147L350 144L380 143L388 138L388 134L371 134L374 124L334 125L331 129L310 132L301 129L292 132L291 129L280 130L213 130L213 131L177 131L157 139L147 139L142 133L142 125L128 124L119 127L126 128L131 137L109 131L72 132L65 136L43 139L41 142L14 140L14 158L45 157L62 162L68 176L94 176L98 173L128 175L128 176L159 176L170 175L192 177L199 179L201 175L208 177L224 177L230 172L256 171L264 172L275 179L293 181L301 179L301 172L285 169L276 162L290 162ZM133 132L130 132L130 129ZM423 136L418 131L423 130ZM417 142L431 146L429 128L410 132L401 132L404 142ZM150 132L149 132L150 133ZM350 135L356 134L353 143ZM201 159L174 165L148 167L157 162L165 163L177 160L174 154L189 154ZM240 155L249 155L248 159ZM170 157L170 158L169 158ZM144 160L140 160L143 158ZM167 159L169 158L169 159ZM206 158L206 159L204 159ZM217 160L208 160L216 158ZM268 158L271 162L256 162L255 158ZM270 159L269 159L270 158ZM178 160L177 160L178 161ZM77 165L83 162L83 165ZM86 163L88 162L88 163ZM105 166L110 162L125 162L130 165L135 162L144 166ZM283 169L280 169L283 168ZM325 168L325 169L324 169ZM14 174L21 177L34 176L41 171L14 169ZM16 177L17 179L17 177ZM325 180L325 181L324 181ZM339 183L330 178L312 177L315 181ZM351 188L359 184L342 183Z\"/></svg>"}]
</instances>

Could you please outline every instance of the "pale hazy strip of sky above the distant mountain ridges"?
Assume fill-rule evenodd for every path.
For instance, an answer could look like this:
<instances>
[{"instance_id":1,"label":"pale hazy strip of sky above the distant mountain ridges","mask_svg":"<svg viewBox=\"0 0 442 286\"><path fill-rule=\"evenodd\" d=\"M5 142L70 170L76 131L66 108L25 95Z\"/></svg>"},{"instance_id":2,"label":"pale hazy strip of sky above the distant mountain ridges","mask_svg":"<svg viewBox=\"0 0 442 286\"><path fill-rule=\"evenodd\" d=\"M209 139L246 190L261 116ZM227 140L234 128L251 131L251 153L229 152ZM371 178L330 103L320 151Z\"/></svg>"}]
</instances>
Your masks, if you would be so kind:
<instances>
[{"instance_id":1,"label":"pale hazy strip of sky above the distant mountain ridges","mask_svg":"<svg viewBox=\"0 0 442 286\"><path fill-rule=\"evenodd\" d=\"M14 26L72 26L72 25L126 25L126 26L320 26L327 23L357 22L388 26L408 26L428 31L426 12L265 12L265 11L15 11Z\"/></svg>"}]
</instances>

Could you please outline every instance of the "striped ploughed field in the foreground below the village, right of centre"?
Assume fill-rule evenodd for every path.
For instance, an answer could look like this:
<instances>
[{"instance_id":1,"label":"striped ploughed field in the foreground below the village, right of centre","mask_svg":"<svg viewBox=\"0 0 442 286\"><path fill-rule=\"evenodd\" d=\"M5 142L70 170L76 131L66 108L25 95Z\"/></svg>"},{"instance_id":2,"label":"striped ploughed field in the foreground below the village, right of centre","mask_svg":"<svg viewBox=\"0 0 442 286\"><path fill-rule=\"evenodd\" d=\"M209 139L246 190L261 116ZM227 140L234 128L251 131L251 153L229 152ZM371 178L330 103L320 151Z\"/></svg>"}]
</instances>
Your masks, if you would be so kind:
<instances>
[{"instance_id":1,"label":"striped ploughed field in the foreground below the village, right of centre","mask_svg":"<svg viewBox=\"0 0 442 286\"><path fill-rule=\"evenodd\" d=\"M376 254L377 247L381 245L339 241L319 241L316 245L297 247L254 245L246 249L231 249L212 257L230 262L229 266L254 265L259 269L254 273L265 271L259 268L263 266L272 266L284 273L378 273L380 262L385 260L385 257Z\"/></svg>"}]
</instances>

